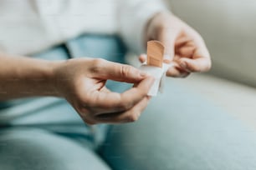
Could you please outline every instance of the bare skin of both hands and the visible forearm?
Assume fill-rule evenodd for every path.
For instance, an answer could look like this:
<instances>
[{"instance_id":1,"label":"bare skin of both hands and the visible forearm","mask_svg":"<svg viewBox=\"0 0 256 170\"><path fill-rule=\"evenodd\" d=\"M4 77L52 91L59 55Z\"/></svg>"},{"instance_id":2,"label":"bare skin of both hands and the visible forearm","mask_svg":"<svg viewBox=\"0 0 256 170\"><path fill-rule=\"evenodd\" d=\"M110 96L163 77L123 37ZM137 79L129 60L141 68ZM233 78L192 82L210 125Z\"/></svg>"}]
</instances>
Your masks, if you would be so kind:
<instances>
[{"instance_id":1,"label":"bare skin of both hands and the visible forearm","mask_svg":"<svg viewBox=\"0 0 256 170\"><path fill-rule=\"evenodd\" d=\"M146 26L145 43L156 39L166 46L172 62L167 76L205 72L211 60L202 37L171 13L158 13ZM141 62L146 56L140 56ZM110 92L107 80L129 82L123 92ZM64 97L88 124L136 121L146 108L153 77L129 65L103 59L45 61L0 53L0 101L34 96Z\"/></svg>"}]
</instances>

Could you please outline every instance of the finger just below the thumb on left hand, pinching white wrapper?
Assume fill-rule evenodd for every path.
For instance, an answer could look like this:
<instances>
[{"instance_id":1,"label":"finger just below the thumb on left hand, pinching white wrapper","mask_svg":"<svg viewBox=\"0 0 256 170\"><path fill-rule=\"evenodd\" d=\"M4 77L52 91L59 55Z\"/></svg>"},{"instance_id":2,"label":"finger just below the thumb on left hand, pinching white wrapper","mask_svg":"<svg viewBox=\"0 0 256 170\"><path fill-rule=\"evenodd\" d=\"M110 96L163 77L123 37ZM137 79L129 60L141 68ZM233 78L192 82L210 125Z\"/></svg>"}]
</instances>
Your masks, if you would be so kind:
<instances>
[{"instance_id":1,"label":"finger just below the thumb on left hand, pinching white wrapper","mask_svg":"<svg viewBox=\"0 0 256 170\"><path fill-rule=\"evenodd\" d=\"M136 87L123 93L94 91L86 95L85 101L89 101L86 102L87 107L101 108L100 113L126 111L147 96L153 82L153 77L146 77Z\"/></svg>"}]
</instances>

